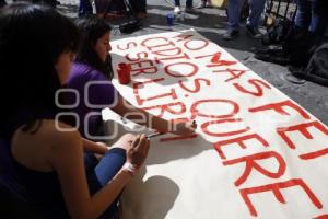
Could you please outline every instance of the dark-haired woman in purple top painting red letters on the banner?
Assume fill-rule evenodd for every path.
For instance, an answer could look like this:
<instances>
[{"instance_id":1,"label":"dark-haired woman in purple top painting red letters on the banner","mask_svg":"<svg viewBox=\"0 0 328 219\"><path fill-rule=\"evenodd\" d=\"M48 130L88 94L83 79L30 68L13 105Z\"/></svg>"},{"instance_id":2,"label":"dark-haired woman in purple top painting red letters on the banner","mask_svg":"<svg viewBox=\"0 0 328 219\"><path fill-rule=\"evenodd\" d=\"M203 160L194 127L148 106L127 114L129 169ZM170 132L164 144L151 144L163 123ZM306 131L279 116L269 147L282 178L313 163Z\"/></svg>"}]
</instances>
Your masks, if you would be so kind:
<instances>
[{"instance_id":1,"label":"dark-haired woman in purple top painting red letters on the banner","mask_svg":"<svg viewBox=\"0 0 328 219\"><path fill-rule=\"evenodd\" d=\"M109 44L110 26L104 20L95 16L83 18L78 21L78 27L82 33L82 43L67 85L77 90L80 94L81 101L78 107L74 108L74 112L79 115L80 132L84 137L99 134L98 130L103 123L102 108L92 106L85 103L84 100L87 100L93 105L108 106L117 114L132 120L136 119L137 123L139 120L139 124L156 129L160 132L194 134L195 123L174 124L153 116L132 106L112 85L113 71L110 56L108 55L112 49ZM90 85L91 82L93 85ZM70 103L74 103L74 100L71 100Z\"/></svg>"}]
</instances>

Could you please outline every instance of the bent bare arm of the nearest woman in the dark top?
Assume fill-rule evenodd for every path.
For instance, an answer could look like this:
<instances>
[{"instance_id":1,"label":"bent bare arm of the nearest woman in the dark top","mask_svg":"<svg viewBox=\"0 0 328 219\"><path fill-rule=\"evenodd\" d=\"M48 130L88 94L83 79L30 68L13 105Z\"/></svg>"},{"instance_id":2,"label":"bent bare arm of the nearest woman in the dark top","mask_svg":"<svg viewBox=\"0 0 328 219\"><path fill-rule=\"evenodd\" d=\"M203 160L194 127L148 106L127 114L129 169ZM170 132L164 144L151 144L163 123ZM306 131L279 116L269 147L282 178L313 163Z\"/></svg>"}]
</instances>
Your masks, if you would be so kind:
<instances>
[{"instance_id":1,"label":"bent bare arm of the nearest woman in the dark top","mask_svg":"<svg viewBox=\"0 0 328 219\"><path fill-rule=\"evenodd\" d=\"M57 130L54 128L54 131ZM57 131L54 138L49 140L54 142L49 153L49 163L58 174L70 217L73 219L99 217L119 195L132 175L120 170L107 185L90 196L83 164L83 140L79 132ZM139 140L139 142L141 141ZM133 150L136 151L132 151L132 157L137 153L140 155L142 151L141 163L139 164L143 163L149 147L149 143L147 145L144 141L142 143L134 147ZM127 154L129 158L131 157L129 153Z\"/></svg>"}]
</instances>

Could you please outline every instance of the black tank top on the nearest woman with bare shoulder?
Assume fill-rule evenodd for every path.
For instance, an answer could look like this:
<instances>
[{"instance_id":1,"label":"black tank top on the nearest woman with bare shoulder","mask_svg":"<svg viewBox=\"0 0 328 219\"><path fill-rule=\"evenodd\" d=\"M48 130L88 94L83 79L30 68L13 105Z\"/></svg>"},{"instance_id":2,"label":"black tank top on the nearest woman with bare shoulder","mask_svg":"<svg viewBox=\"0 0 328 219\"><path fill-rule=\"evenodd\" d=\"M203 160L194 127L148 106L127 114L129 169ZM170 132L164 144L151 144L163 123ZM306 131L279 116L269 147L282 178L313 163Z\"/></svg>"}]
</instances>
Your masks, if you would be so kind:
<instances>
[{"instance_id":1,"label":"black tank top on the nearest woman with bare shoulder","mask_svg":"<svg viewBox=\"0 0 328 219\"><path fill-rule=\"evenodd\" d=\"M5 135L0 139L0 184L11 194L37 206L45 218L69 218L57 173L28 169L11 153L11 138L25 124L26 115L19 115L12 124L5 126ZM55 114L48 113L38 119L42 118L54 119Z\"/></svg>"}]
</instances>

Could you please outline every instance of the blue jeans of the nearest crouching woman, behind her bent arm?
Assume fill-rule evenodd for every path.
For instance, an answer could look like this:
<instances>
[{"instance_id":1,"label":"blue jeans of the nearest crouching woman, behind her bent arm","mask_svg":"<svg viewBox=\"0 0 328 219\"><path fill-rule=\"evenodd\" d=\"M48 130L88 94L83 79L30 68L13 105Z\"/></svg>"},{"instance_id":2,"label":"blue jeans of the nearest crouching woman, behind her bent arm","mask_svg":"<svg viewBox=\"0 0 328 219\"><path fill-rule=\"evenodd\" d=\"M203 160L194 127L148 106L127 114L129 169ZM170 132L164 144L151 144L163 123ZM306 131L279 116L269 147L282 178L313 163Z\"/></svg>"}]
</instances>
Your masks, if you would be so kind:
<instances>
[{"instance_id":1,"label":"blue jeans of the nearest crouching woman, behind her bent arm","mask_svg":"<svg viewBox=\"0 0 328 219\"><path fill-rule=\"evenodd\" d=\"M92 153L84 153L84 166L90 193L93 195L104 187L121 169L127 160L126 150L121 148L110 149L98 161ZM117 211L118 198L107 208L101 218L113 218Z\"/></svg>"}]
</instances>

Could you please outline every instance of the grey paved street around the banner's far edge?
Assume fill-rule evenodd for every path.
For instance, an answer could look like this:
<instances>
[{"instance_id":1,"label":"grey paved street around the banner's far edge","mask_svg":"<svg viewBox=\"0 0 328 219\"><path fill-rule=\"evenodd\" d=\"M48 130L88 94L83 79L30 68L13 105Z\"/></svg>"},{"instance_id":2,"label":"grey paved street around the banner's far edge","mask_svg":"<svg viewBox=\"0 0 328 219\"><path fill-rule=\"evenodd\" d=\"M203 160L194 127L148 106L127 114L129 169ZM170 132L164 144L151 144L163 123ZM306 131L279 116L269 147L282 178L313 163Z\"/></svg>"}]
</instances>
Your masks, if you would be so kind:
<instances>
[{"instance_id":1,"label":"grey paved street around the banner's far edge","mask_svg":"<svg viewBox=\"0 0 328 219\"><path fill-rule=\"evenodd\" d=\"M77 16L75 0L60 0L59 10L69 16ZM199 0L195 0L197 5ZM181 0L184 7L185 1ZM274 64L263 62L254 58L254 50L261 46L260 42L250 38L245 28L235 41L226 42L222 39L222 34L226 25L226 15L224 10L202 9L198 13L186 13L185 20L176 23L173 27L166 25L166 14L173 10L173 3L169 0L148 0L148 18L142 21L142 30L131 34L121 35L117 30L120 21L112 22L114 24L113 38L131 37L152 33L161 33L175 30L195 28L204 37L225 48L230 54L237 58L245 66L250 68L257 74L269 81L277 89L289 95L291 99L309 111L313 115L328 125L328 89L312 82L294 84L284 80L288 73L285 67Z\"/></svg>"}]
</instances>

